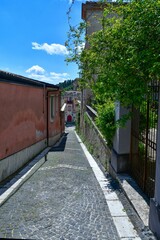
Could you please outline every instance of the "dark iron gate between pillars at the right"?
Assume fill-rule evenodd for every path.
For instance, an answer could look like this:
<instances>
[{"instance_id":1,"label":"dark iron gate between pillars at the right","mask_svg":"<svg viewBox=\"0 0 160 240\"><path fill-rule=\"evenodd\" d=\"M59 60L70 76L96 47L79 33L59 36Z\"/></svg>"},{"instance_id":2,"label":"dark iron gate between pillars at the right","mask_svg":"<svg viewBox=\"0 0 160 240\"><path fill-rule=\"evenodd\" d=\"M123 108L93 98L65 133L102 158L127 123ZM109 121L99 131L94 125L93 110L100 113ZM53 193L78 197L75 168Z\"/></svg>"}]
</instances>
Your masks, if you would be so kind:
<instances>
[{"instance_id":1,"label":"dark iron gate between pillars at the right","mask_svg":"<svg viewBox=\"0 0 160 240\"><path fill-rule=\"evenodd\" d=\"M149 96L139 109L133 107L131 124L131 175L141 189L154 196L157 148L159 83L149 85Z\"/></svg>"}]
</instances>

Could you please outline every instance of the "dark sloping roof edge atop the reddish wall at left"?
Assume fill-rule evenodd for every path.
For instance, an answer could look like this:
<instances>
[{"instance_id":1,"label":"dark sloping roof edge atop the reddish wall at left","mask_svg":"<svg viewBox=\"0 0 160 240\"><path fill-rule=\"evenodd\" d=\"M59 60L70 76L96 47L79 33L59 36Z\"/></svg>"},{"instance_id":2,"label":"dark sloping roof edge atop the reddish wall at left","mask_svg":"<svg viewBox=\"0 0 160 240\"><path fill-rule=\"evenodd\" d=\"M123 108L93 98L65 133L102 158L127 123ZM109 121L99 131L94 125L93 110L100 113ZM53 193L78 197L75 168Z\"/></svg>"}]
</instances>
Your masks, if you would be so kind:
<instances>
[{"instance_id":1,"label":"dark sloping roof edge atop the reddish wall at left","mask_svg":"<svg viewBox=\"0 0 160 240\"><path fill-rule=\"evenodd\" d=\"M24 77L21 75L17 75L17 74L10 73L10 72L5 72L2 70L0 70L0 82L1 81L21 84L21 85L31 85L31 86L35 86L35 87L44 87L45 86L45 87L59 89L59 87L54 84L34 80L32 78L27 78L27 77Z\"/></svg>"}]
</instances>

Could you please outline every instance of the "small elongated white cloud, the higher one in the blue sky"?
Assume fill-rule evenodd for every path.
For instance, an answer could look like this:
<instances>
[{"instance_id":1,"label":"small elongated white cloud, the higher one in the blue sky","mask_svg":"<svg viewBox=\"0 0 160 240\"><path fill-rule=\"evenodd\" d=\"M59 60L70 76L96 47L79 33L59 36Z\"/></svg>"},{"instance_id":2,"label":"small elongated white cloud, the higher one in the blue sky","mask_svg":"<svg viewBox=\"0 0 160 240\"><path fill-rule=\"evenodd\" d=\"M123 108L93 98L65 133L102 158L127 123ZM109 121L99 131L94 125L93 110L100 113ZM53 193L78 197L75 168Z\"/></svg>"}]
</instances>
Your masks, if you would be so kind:
<instances>
[{"instance_id":1,"label":"small elongated white cloud, the higher one in the blue sky","mask_svg":"<svg viewBox=\"0 0 160 240\"><path fill-rule=\"evenodd\" d=\"M32 42L32 49L43 50L50 55L67 55L68 54L68 50L64 45L56 44L56 43L39 44L39 43L36 43L36 42Z\"/></svg>"}]
</instances>

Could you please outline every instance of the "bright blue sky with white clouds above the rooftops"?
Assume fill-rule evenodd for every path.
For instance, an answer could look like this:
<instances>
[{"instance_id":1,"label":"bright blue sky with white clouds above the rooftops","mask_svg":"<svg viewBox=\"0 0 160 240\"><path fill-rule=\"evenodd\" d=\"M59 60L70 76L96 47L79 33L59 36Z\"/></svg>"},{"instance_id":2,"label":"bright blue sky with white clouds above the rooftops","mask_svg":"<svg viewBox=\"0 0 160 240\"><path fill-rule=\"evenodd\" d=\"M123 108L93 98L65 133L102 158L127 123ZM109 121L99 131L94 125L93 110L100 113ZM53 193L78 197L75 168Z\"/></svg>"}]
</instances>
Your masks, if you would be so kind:
<instances>
[{"instance_id":1,"label":"bright blue sky with white clouds above the rooftops","mask_svg":"<svg viewBox=\"0 0 160 240\"><path fill-rule=\"evenodd\" d=\"M0 69L57 84L78 77L76 64L67 66L71 0L0 0ZM75 0L72 23L81 21L83 0Z\"/></svg>"}]
</instances>

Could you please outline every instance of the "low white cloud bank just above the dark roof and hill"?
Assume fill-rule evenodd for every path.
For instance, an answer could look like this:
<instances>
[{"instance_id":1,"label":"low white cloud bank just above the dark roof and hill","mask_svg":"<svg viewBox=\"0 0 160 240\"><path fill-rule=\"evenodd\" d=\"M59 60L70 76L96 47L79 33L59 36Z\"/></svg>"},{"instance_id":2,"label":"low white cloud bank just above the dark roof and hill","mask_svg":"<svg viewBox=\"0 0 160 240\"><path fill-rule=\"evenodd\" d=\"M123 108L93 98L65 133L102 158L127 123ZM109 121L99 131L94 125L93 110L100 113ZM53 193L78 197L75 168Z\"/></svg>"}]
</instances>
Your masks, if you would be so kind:
<instances>
[{"instance_id":1,"label":"low white cloud bank just above the dark roof and hill","mask_svg":"<svg viewBox=\"0 0 160 240\"><path fill-rule=\"evenodd\" d=\"M31 68L27 69L26 72L29 73L28 74L29 78L52 84L64 82L69 78L68 73L55 73L55 72L47 73L44 70L44 68L38 65L32 66Z\"/></svg>"}]
</instances>

